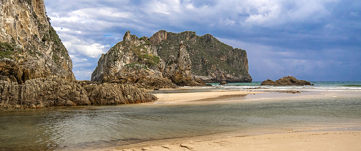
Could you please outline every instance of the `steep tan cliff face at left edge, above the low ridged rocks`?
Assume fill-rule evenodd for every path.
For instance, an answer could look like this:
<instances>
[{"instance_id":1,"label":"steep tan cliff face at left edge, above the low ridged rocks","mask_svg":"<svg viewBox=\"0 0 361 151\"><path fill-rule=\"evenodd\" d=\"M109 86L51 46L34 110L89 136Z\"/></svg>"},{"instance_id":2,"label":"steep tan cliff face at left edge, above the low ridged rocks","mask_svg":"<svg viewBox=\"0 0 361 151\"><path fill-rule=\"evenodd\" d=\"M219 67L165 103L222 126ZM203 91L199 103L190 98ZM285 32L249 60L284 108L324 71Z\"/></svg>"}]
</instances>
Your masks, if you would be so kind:
<instances>
[{"instance_id":1,"label":"steep tan cliff face at left edge, above the low ridged rocks","mask_svg":"<svg viewBox=\"0 0 361 151\"><path fill-rule=\"evenodd\" d=\"M50 75L75 80L68 51L51 27L44 1L1 1L0 73L22 84Z\"/></svg>"}]
</instances>

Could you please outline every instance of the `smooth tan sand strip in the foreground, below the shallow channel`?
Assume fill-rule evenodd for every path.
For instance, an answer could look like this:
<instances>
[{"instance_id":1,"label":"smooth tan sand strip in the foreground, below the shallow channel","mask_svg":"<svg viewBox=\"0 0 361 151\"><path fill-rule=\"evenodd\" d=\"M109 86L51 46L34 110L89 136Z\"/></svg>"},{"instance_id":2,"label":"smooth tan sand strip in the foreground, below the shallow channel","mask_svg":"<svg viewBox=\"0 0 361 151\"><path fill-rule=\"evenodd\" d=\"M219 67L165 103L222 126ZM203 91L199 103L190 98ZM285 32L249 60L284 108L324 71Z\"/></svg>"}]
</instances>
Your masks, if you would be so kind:
<instances>
[{"instance_id":1,"label":"smooth tan sand strip in the foreground, below the shallow channel","mask_svg":"<svg viewBox=\"0 0 361 151\"><path fill-rule=\"evenodd\" d=\"M361 131L264 134L122 150L361 150Z\"/></svg>"}]
</instances>

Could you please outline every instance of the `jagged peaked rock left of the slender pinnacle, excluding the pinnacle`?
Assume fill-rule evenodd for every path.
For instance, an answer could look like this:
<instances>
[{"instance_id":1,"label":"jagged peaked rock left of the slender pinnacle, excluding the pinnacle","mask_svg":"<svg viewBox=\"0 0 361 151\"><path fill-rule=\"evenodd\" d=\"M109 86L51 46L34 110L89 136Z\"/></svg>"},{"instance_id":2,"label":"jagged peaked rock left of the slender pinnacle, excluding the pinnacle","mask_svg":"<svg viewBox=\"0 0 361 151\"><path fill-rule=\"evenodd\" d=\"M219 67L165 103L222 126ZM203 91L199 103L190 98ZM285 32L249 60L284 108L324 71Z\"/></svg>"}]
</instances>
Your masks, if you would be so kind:
<instances>
[{"instance_id":1,"label":"jagged peaked rock left of the slender pinnacle, excluding the pinnacle","mask_svg":"<svg viewBox=\"0 0 361 151\"><path fill-rule=\"evenodd\" d=\"M147 37L138 38L127 31L106 54L102 54L92 80L100 83L136 84L142 88L175 88L163 78L164 61Z\"/></svg>"}]
</instances>

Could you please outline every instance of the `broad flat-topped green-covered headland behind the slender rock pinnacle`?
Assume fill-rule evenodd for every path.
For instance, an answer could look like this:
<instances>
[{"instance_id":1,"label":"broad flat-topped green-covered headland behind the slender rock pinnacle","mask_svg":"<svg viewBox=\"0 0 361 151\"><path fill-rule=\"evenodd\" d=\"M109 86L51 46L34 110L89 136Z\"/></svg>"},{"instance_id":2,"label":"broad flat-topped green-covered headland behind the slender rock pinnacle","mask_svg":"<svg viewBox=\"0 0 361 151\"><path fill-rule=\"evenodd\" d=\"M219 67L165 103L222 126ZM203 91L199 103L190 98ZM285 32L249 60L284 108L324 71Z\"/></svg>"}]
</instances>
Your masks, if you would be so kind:
<instances>
[{"instance_id":1,"label":"broad flat-topped green-covered headland behind the slender rock pinnacle","mask_svg":"<svg viewBox=\"0 0 361 151\"><path fill-rule=\"evenodd\" d=\"M172 59L169 56L178 54L179 43L184 41L192 62L192 76L204 82L252 82L246 51L234 49L210 34L198 36L192 31L171 33L160 30L149 41L165 62Z\"/></svg>"}]
</instances>

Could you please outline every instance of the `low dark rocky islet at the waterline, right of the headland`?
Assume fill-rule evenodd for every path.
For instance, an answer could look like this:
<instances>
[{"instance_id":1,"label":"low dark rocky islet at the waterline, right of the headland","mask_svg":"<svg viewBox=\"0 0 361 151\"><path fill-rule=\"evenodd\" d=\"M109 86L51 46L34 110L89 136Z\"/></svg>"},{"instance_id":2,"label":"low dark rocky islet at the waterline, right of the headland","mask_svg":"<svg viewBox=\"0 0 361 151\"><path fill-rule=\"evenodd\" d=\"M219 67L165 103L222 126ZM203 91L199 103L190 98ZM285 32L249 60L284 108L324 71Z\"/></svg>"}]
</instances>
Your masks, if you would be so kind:
<instances>
[{"instance_id":1,"label":"low dark rocky islet at the waterline, right of the headland","mask_svg":"<svg viewBox=\"0 0 361 151\"><path fill-rule=\"evenodd\" d=\"M292 76L288 76L288 77L283 77L277 81L272 81L272 80L266 80L263 81L262 85L268 85L268 86L314 86L313 84L311 84L308 81L304 81L304 80L297 80L296 78L292 77Z\"/></svg>"}]
</instances>

